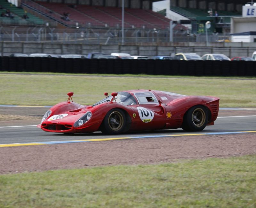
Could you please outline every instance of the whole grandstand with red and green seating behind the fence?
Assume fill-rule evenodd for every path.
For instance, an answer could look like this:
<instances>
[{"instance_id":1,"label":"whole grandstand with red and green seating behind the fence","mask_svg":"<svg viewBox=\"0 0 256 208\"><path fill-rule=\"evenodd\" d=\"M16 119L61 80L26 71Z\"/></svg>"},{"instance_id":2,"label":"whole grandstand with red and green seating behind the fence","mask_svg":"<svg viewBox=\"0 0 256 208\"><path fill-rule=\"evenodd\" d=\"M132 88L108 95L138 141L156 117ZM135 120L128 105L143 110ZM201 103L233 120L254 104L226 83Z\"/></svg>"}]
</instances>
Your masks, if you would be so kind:
<instances>
[{"instance_id":1,"label":"whole grandstand with red and green seating behind the fence","mask_svg":"<svg viewBox=\"0 0 256 208\"><path fill-rule=\"evenodd\" d=\"M166 41L168 40L170 20L174 20L172 18L174 16L167 15L167 18L160 12L153 12L153 2L156 1L124 0L124 28L126 34L128 34L126 37L162 36ZM180 21L174 21L176 25L173 28L174 36L195 38L195 34L204 34L204 26L202 28L202 25L206 21L212 22L212 32L221 33L222 28L228 31L230 17L241 15L244 3L247 3L247 1L170 0L170 8L166 9L166 14L169 10L172 14L179 15L178 20ZM19 26L15 32L23 27L23 34L23 31L26 31L26 34L28 31L24 28L36 26L37 32L33 31L32 34L32 29L30 30L33 37L40 33L38 31L40 28L42 28L41 31L44 29L44 33L48 35L49 32L53 31L49 28L54 28L56 33L59 32L58 29L65 29L67 33L72 30L71 32L82 31L82 33L88 35L88 31L93 29L92 33L96 31L97 34L109 33L110 37L120 36L122 26L121 0L22 0L19 7L6 0L0 0L0 5L4 8L3 10L8 9L14 15L12 19L0 17L1 25ZM213 12L218 11L219 18L216 19L214 16L210 16L209 9L212 9ZM69 14L68 20L63 18L64 12ZM28 15L28 19L22 18L24 13ZM201 28L199 28L199 25L201 25ZM80 31L77 28L80 28ZM4 30L5 28L2 29L2 31ZM9 31L12 31L12 29L9 29ZM52 37L53 34L49 36Z\"/></svg>"}]
</instances>

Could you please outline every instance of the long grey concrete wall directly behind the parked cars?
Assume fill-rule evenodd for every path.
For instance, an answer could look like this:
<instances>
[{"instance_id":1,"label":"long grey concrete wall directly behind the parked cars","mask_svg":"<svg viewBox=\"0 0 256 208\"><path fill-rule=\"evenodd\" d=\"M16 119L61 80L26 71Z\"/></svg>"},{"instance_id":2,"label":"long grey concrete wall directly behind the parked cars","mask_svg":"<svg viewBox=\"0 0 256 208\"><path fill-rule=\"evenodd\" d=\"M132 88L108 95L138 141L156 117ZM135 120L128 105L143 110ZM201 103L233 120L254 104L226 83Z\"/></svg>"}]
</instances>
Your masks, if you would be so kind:
<instances>
[{"instance_id":1,"label":"long grey concrete wall directly behind the parked cars","mask_svg":"<svg viewBox=\"0 0 256 208\"><path fill-rule=\"evenodd\" d=\"M62 43L38 43L38 42L0 42L2 56L12 53L50 53L50 54L88 54L90 52L130 53L131 55L160 56L177 52L195 52L199 55L205 53L223 53L232 58L235 56L252 56L256 51L256 43L148 43L125 45L86 45L86 44L62 44Z\"/></svg>"}]
</instances>

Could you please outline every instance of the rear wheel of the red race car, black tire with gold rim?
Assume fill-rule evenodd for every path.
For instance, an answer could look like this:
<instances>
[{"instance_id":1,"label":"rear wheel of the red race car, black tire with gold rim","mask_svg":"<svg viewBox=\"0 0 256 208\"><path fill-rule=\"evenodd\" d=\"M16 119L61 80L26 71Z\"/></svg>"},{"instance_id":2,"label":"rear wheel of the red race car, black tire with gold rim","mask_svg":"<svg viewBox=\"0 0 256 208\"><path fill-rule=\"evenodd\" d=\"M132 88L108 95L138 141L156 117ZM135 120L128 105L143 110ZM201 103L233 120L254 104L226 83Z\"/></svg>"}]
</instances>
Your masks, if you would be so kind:
<instances>
[{"instance_id":1,"label":"rear wheel of the red race car, black tire with gold rim","mask_svg":"<svg viewBox=\"0 0 256 208\"><path fill-rule=\"evenodd\" d=\"M188 132L202 131L208 123L208 113L204 106L189 108L183 117L181 128Z\"/></svg>"}]
</instances>

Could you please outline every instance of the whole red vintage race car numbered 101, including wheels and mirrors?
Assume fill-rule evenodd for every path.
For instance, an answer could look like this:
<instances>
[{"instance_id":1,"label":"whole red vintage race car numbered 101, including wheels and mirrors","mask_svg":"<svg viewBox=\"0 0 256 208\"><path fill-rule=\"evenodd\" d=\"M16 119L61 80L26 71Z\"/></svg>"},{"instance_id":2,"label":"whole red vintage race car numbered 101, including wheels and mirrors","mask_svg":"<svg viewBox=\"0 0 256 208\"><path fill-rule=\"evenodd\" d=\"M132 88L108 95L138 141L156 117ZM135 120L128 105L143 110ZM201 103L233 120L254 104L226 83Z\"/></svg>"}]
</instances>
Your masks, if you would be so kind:
<instances>
[{"instance_id":1,"label":"whole red vintage race car numbered 101, including wheels and mirrors","mask_svg":"<svg viewBox=\"0 0 256 208\"><path fill-rule=\"evenodd\" d=\"M219 112L216 97L186 96L156 90L113 92L91 106L68 101L48 110L37 127L46 132L84 133L177 129L202 131ZM71 101L70 101L71 99Z\"/></svg>"}]
</instances>

